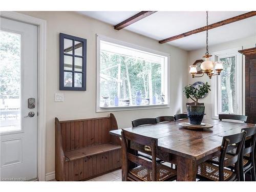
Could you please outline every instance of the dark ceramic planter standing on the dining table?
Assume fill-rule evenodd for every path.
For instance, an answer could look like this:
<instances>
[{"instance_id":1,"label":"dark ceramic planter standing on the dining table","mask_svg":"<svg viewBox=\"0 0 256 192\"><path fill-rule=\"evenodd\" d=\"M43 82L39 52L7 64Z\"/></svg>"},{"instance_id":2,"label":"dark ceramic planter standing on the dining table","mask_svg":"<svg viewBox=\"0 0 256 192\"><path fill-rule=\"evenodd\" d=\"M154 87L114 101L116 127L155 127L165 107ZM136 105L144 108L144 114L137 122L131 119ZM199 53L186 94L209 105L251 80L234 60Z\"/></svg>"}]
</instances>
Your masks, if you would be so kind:
<instances>
[{"instance_id":1,"label":"dark ceramic planter standing on the dining table","mask_svg":"<svg viewBox=\"0 0 256 192\"><path fill-rule=\"evenodd\" d=\"M200 125L204 117L204 105L187 105L186 107L189 123Z\"/></svg>"}]
</instances>

